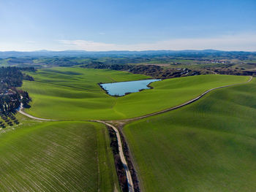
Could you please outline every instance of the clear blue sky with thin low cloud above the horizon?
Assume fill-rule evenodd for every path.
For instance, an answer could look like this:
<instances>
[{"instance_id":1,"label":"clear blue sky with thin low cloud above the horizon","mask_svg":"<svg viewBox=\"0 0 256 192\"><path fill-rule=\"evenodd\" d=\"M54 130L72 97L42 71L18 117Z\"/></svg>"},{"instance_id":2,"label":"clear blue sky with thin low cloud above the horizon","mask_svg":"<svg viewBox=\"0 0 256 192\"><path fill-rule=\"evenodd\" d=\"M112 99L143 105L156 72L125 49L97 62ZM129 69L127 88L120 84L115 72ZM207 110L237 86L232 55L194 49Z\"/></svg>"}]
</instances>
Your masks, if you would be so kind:
<instances>
[{"instance_id":1,"label":"clear blue sky with thin low cloud above the horizon","mask_svg":"<svg viewBox=\"0 0 256 192\"><path fill-rule=\"evenodd\" d=\"M256 0L0 0L0 50L256 51Z\"/></svg>"}]
</instances>

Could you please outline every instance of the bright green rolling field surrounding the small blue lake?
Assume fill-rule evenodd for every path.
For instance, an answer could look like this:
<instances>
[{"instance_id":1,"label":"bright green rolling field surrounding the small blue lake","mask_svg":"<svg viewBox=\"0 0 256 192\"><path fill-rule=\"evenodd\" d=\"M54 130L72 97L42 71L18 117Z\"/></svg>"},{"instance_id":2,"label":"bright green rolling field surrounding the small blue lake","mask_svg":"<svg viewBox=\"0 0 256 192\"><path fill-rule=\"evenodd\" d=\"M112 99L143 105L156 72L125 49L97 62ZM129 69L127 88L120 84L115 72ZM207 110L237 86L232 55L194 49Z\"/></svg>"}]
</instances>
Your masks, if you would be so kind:
<instances>
[{"instance_id":1,"label":"bright green rolling field surrounding the small blue lake","mask_svg":"<svg viewBox=\"0 0 256 192\"><path fill-rule=\"evenodd\" d=\"M51 68L29 73L35 81L24 81L35 117L59 120L114 120L134 118L182 104L210 88L246 82L249 77L200 75L162 80L154 89L123 97L109 96L99 82L118 82L149 78L141 74L107 69ZM140 109L140 110L138 110Z\"/></svg>"}]
</instances>

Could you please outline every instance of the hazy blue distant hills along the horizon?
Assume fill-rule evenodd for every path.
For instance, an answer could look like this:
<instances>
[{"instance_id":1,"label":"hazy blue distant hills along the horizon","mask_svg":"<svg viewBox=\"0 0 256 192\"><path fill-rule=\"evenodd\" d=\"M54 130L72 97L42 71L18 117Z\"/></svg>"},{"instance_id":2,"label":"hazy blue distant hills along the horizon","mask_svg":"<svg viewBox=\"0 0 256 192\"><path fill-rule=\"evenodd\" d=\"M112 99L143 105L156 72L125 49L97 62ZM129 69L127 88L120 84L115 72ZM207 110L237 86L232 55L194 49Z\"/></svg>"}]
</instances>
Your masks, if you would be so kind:
<instances>
[{"instance_id":1,"label":"hazy blue distant hills along the horizon","mask_svg":"<svg viewBox=\"0 0 256 192\"><path fill-rule=\"evenodd\" d=\"M53 57L53 56L108 56L108 55L176 55L176 54L256 54L256 52L245 51L222 51L222 50L143 50L143 51L85 51L85 50L64 50L64 51L0 51L0 58L10 57Z\"/></svg>"}]
</instances>

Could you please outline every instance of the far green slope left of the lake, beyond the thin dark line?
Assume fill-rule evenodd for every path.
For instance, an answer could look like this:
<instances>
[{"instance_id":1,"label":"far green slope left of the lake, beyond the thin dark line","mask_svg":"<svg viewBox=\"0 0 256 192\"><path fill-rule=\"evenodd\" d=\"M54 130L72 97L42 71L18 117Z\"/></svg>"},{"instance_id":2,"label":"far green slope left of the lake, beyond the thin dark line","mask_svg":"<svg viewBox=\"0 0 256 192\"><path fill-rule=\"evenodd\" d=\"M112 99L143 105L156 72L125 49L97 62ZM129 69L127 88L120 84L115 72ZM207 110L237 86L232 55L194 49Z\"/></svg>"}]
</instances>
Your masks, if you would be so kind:
<instances>
[{"instance_id":1,"label":"far green slope left of the lake, beyond the thin dark line","mask_svg":"<svg viewBox=\"0 0 256 192\"><path fill-rule=\"evenodd\" d=\"M69 85L76 88L101 91L98 82L118 82L127 80L141 80L149 77L142 74L131 74L129 72L118 72L108 69L83 69L80 67L55 67L42 69L37 73L31 73L36 80L55 83L58 85Z\"/></svg>"}]
</instances>

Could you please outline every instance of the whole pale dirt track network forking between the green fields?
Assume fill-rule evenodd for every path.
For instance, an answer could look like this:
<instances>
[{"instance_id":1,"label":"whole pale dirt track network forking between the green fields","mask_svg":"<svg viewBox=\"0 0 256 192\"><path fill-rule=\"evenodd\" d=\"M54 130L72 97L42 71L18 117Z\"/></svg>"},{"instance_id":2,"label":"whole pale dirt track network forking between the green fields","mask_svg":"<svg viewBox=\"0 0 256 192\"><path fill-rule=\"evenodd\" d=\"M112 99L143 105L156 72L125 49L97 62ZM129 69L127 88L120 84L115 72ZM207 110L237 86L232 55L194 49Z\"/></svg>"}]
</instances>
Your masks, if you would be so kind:
<instances>
[{"instance_id":1,"label":"whole pale dirt track network forking between the green fields","mask_svg":"<svg viewBox=\"0 0 256 192\"><path fill-rule=\"evenodd\" d=\"M233 85L225 85L225 86L221 86L221 87L218 87L218 88L211 88L208 91L205 91L204 93L200 94L200 96L197 96L195 99L191 99L191 100L185 102L184 104L180 104L180 105L178 105L176 107L171 107L171 108L169 108L167 110L162 110L162 111L159 111L159 112L153 112L153 113L148 114L148 115L143 115L143 116L140 116L138 118L129 118L129 119L124 119L124 120L108 120L108 121L91 120L91 121L98 122L98 123L104 123L106 126L110 126L111 128L113 128L113 130L116 132L116 137L118 139L119 155L120 155L120 158L121 158L121 162L124 165L125 172L127 174L127 183L128 183L128 187L129 187L129 192L134 192L134 185L133 185L133 182L132 182L131 172L129 171L129 168L127 166L127 161L126 161L126 159L124 157L124 152L123 152L123 148L122 148L122 145L121 145L121 137L120 137L119 131L118 131L118 129L115 126L111 125L110 123L115 123L115 124L116 123L117 124L120 123L121 126L124 126L125 123L127 123L129 121L132 121L132 120L140 120L142 118L148 118L150 116L159 115L159 114L164 113L164 112L169 112L171 110L176 110L178 108L184 107L187 104L191 104L191 103L197 101L198 99L202 98L203 96L205 96L210 91L214 91L214 90L219 89L219 88L227 88L227 87L234 86L234 85L241 85L241 84L244 84L244 83L247 83L247 82L251 82L251 81L252 81L252 76L250 76L249 80L246 81L246 82L236 83L236 84L233 84ZM32 115L27 114L26 112L23 112L22 109L23 109L23 106L21 105L20 106L20 110L18 110L18 112L20 112L21 114L25 115L28 118L32 118L32 119L35 119L35 120L47 120L47 121L50 121L50 120L52 121L53 120L53 119L36 118L36 117L34 117Z\"/></svg>"}]
</instances>

